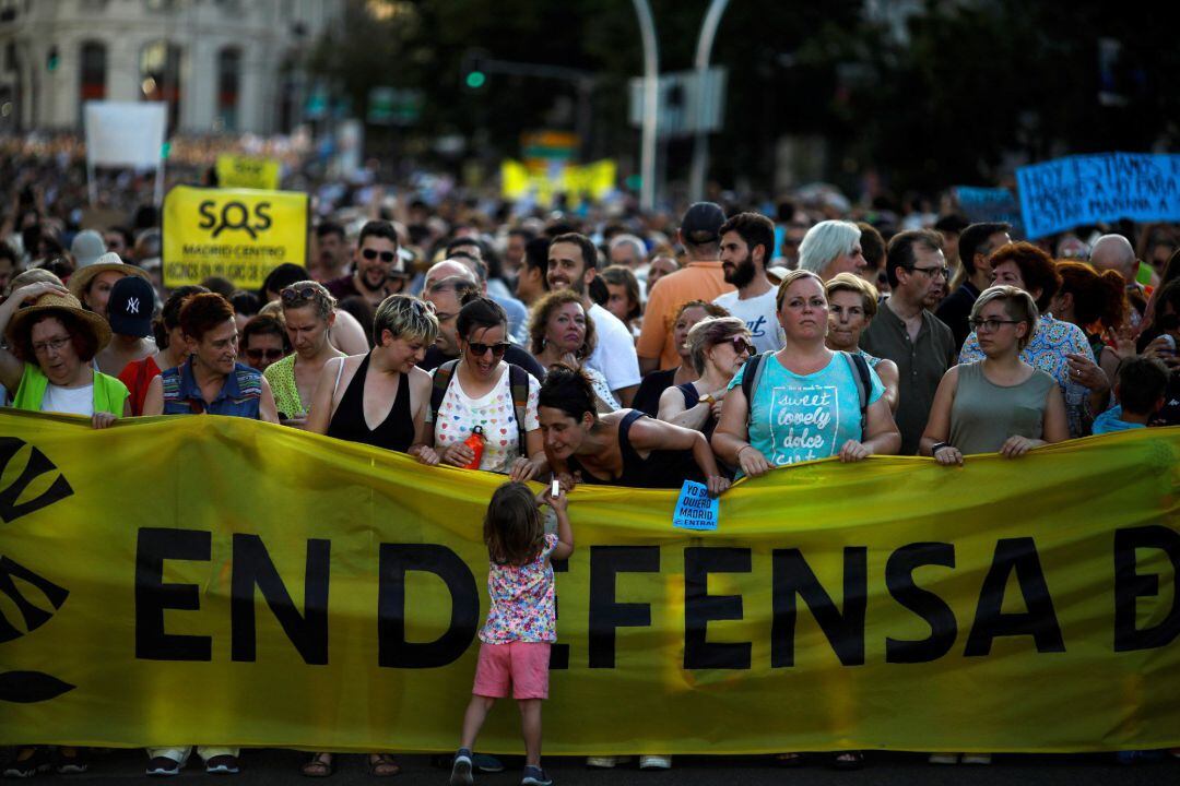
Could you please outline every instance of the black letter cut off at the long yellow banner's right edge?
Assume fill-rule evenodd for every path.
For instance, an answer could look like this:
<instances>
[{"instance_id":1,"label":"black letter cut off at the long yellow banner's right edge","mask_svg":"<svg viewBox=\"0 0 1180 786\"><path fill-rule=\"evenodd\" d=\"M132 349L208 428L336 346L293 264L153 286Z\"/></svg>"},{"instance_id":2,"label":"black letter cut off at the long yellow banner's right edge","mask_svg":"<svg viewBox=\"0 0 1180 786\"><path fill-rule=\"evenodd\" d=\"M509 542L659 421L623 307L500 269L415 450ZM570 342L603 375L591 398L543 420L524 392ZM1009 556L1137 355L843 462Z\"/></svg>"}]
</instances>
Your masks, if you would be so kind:
<instances>
[{"instance_id":1,"label":"black letter cut off at the long yellow banner's right edge","mask_svg":"<svg viewBox=\"0 0 1180 786\"><path fill-rule=\"evenodd\" d=\"M1135 569L1136 549L1158 549L1172 562L1172 608L1161 622L1142 630L1135 627L1135 605L1140 597L1159 596L1160 576ZM1180 534L1159 524L1115 530L1114 650L1167 647L1176 636L1180 636Z\"/></svg>"}]
</instances>

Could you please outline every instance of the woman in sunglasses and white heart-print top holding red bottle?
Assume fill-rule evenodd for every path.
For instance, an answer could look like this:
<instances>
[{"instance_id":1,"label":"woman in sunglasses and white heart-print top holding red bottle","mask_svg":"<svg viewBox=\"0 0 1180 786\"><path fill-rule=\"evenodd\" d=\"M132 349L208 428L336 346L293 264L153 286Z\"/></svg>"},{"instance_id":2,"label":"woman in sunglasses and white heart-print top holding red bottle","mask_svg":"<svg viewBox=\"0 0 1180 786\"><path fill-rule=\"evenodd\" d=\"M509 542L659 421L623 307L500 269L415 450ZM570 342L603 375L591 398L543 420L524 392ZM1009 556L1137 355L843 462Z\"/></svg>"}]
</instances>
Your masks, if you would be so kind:
<instances>
[{"instance_id":1,"label":"woman in sunglasses and white heart-print top holding red bottle","mask_svg":"<svg viewBox=\"0 0 1180 786\"><path fill-rule=\"evenodd\" d=\"M424 463L467 467L476 455L467 440L483 430L479 469L530 481L549 471L537 422L540 383L518 365L507 363L509 318L487 297L468 299L455 317L459 359L434 370L427 421L433 429L433 450L422 448ZM433 458L433 461L431 461Z\"/></svg>"}]
</instances>

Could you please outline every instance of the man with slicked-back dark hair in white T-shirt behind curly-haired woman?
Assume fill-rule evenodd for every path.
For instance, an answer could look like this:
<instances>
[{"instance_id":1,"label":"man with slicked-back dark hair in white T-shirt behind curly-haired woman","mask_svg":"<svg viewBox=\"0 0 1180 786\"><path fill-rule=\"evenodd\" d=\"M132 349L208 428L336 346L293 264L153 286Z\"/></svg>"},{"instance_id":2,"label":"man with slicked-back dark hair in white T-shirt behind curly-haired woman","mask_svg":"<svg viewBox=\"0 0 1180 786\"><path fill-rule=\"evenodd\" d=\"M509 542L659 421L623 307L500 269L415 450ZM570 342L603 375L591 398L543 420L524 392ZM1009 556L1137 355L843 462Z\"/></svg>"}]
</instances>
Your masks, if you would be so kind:
<instances>
[{"instance_id":1,"label":"man with slicked-back dark hair in white T-shirt behind curly-haired woman","mask_svg":"<svg viewBox=\"0 0 1180 786\"><path fill-rule=\"evenodd\" d=\"M549 289L571 289L582 296L582 308L598 333L586 365L607 377L611 392L623 407L630 407L641 379L635 339L618 317L590 299L589 286L597 269L598 250L585 235L566 232L553 238L549 246Z\"/></svg>"}]
</instances>

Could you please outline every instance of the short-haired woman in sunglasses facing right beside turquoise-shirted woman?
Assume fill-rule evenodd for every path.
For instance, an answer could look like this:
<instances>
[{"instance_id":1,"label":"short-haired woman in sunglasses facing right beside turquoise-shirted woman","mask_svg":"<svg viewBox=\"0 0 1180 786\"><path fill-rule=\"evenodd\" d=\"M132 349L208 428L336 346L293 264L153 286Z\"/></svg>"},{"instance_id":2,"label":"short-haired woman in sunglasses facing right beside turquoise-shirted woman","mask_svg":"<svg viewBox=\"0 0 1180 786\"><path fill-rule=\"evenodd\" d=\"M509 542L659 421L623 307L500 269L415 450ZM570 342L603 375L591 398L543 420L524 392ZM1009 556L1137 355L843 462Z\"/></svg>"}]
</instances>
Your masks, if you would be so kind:
<instances>
[{"instance_id":1,"label":"short-haired woman in sunglasses facing right beside turquoise-shirted woman","mask_svg":"<svg viewBox=\"0 0 1180 786\"><path fill-rule=\"evenodd\" d=\"M695 382L668 388L660 396L660 420L713 437L729 381L754 354L746 322L710 317L688 331L688 352L700 375Z\"/></svg>"}]
</instances>

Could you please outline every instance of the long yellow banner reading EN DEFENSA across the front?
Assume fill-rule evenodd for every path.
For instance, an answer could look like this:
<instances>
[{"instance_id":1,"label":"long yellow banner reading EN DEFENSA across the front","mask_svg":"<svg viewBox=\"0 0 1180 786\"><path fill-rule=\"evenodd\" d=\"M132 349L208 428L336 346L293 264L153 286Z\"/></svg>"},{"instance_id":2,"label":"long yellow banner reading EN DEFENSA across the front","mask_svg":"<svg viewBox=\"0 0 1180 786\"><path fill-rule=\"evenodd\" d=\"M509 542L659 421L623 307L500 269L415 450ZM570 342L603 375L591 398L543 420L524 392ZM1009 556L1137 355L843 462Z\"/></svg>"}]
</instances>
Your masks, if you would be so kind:
<instances>
[{"instance_id":1,"label":"long yellow banner reading EN DEFENSA across the front","mask_svg":"<svg viewBox=\"0 0 1180 786\"><path fill-rule=\"evenodd\" d=\"M0 435L0 744L454 747L503 477L214 416ZM1178 453L802 464L706 533L578 488L546 752L1178 746Z\"/></svg>"}]
</instances>

